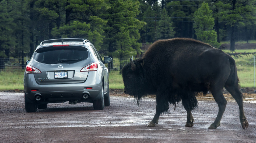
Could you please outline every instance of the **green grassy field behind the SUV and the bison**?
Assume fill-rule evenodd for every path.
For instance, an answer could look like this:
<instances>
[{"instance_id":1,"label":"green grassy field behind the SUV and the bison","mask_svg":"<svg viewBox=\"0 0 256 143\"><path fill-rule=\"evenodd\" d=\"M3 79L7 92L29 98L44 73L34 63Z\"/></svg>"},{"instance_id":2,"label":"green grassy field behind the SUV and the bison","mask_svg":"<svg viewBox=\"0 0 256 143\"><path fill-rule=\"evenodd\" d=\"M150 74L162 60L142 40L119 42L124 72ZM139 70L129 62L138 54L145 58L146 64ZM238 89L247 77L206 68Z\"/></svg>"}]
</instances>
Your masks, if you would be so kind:
<instances>
[{"instance_id":1,"label":"green grassy field behind the SUV and the bison","mask_svg":"<svg viewBox=\"0 0 256 143\"><path fill-rule=\"evenodd\" d=\"M230 53L229 50L224 52ZM256 52L256 49L250 50L236 50L235 53L243 52ZM253 55L247 55L242 57L233 57L236 61L238 77L240 79L240 85L242 87L254 87L254 75L253 75ZM1 71L0 72L0 90L14 90L23 88L23 74L24 71ZM111 89L123 89L122 76L119 71L110 72L110 86Z\"/></svg>"}]
</instances>

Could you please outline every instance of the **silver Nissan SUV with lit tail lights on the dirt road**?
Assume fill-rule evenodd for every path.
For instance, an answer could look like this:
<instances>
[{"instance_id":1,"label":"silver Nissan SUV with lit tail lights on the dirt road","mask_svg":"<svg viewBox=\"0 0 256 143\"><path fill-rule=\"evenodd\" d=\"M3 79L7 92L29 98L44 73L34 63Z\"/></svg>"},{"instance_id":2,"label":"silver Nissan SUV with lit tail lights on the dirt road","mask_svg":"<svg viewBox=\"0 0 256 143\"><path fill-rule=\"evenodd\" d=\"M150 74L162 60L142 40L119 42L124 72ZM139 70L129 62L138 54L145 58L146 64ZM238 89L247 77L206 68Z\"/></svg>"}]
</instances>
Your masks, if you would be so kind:
<instances>
[{"instance_id":1,"label":"silver Nissan SUV with lit tail lights on the dirt road","mask_svg":"<svg viewBox=\"0 0 256 143\"><path fill-rule=\"evenodd\" d=\"M48 103L110 105L109 72L94 45L86 39L45 40L35 49L24 72L25 109L35 112Z\"/></svg>"}]
</instances>

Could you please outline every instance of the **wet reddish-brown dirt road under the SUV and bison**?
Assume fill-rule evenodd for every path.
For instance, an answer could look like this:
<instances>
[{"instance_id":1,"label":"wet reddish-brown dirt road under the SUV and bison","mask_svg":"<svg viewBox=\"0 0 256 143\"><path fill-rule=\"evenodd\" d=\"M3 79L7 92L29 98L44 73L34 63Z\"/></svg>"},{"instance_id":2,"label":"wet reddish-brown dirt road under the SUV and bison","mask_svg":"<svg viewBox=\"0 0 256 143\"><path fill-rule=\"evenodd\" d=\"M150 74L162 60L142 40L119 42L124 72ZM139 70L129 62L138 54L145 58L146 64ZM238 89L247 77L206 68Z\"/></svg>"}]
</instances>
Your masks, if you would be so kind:
<instances>
[{"instance_id":1,"label":"wet reddish-brown dirt road under the SUV and bison","mask_svg":"<svg viewBox=\"0 0 256 143\"><path fill-rule=\"evenodd\" d=\"M192 112L195 125L185 127L186 111L181 103L170 106L155 127L146 127L155 114L153 97L145 98L138 107L133 97L110 94L111 105L93 110L92 103L48 104L47 109L26 113L23 93L0 92L1 143L98 143L98 142L256 142L255 94L246 94L245 116L249 122L242 129L239 108L229 95L221 127L208 129L217 116L218 106L212 98L198 98L199 107Z\"/></svg>"}]
</instances>

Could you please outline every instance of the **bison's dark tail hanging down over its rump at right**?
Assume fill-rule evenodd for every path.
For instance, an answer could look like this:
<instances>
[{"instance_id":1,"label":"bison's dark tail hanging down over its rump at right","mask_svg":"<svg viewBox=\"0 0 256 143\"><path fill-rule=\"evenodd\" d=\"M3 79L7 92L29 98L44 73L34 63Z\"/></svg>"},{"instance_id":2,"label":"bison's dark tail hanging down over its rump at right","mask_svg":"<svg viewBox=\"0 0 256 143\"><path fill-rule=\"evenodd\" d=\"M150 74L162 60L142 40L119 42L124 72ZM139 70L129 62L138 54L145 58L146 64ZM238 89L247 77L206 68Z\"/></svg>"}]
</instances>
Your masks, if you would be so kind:
<instances>
[{"instance_id":1,"label":"bison's dark tail hanging down over its rump at right","mask_svg":"<svg viewBox=\"0 0 256 143\"><path fill-rule=\"evenodd\" d=\"M230 74L226 81L225 86L240 88L239 79L237 75L236 62L231 56L229 57L229 62L230 62Z\"/></svg>"}]
</instances>

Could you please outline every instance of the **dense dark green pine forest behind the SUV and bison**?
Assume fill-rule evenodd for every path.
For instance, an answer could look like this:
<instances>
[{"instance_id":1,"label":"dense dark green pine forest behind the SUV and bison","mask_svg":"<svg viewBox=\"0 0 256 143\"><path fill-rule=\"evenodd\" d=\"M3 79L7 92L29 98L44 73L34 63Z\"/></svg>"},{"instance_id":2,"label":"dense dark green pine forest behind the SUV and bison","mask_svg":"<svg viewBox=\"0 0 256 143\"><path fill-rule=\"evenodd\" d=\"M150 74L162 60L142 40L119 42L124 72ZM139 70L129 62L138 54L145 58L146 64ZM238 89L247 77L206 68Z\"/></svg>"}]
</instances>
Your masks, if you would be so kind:
<instances>
[{"instance_id":1,"label":"dense dark green pine forest behind the SUV and bison","mask_svg":"<svg viewBox=\"0 0 256 143\"><path fill-rule=\"evenodd\" d=\"M0 0L0 69L10 58L24 67L41 41L61 37L88 39L119 60L175 37L234 51L236 41L256 40L255 8L256 0Z\"/></svg>"}]
</instances>

